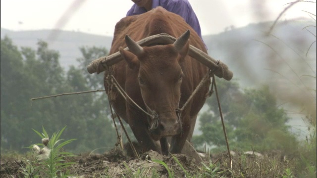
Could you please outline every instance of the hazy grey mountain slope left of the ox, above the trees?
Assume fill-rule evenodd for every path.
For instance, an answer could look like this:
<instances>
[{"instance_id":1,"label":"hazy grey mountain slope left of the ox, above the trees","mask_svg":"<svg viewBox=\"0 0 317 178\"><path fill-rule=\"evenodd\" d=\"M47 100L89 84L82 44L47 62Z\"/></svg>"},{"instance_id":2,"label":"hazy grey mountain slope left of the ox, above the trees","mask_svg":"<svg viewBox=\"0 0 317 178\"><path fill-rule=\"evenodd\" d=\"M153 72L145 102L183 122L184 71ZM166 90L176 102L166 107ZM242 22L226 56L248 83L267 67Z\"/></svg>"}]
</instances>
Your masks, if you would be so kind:
<instances>
[{"instance_id":1,"label":"hazy grey mountain slope left of the ox, above the trees","mask_svg":"<svg viewBox=\"0 0 317 178\"><path fill-rule=\"evenodd\" d=\"M79 47L97 46L110 49L112 42L112 37L62 30L10 31L1 28L1 38L5 35L19 47L36 49L39 40L47 42L50 49L59 51L60 64L66 69L70 65L76 65L76 59L82 56Z\"/></svg>"}]
</instances>

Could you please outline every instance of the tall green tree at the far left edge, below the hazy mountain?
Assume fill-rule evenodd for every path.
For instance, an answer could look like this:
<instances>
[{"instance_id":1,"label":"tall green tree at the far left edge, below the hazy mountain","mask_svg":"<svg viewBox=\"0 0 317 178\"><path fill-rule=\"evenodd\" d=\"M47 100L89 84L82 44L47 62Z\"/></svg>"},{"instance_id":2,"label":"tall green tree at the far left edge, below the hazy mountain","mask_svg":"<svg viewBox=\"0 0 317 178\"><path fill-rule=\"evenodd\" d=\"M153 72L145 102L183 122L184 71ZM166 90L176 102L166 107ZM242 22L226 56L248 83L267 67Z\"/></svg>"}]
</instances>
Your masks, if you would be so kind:
<instances>
[{"instance_id":1,"label":"tall green tree at the far left edge, below the hazy mountain","mask_svg":"<svg viewBox=\"0 0 317 178\"><path fill-rule=\"evenodd\" d=\"M34 140L32 128L62 128L62 122L56 122L54 101L42 100L35 105L30 101L35 96L55 94L65 84L58 52L42 41L38 46L37 51L28 47L19 51L9 38L1 39L1 148L22 150L29 146Z\"/></svg>"}]
</instances>

